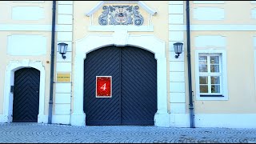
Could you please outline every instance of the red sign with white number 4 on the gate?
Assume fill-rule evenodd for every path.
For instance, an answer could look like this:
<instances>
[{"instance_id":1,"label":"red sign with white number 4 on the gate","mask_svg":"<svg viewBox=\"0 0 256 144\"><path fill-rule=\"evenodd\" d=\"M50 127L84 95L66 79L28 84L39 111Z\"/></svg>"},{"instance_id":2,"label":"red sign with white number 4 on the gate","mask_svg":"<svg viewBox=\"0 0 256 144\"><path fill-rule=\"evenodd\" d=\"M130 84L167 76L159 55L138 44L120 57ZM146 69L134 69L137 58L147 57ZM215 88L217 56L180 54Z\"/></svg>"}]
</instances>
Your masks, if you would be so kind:
<instances>
[{"instance_id":1,"label":"red sign with white number 4 on the gate","mask_svg":"<svg viewBox=\"0 0 256 144\"><path fill-rule=\"evenodd\" d=\"M112 77L96 76L96 98L112 97Z\"/></svg>"}]
</instances>

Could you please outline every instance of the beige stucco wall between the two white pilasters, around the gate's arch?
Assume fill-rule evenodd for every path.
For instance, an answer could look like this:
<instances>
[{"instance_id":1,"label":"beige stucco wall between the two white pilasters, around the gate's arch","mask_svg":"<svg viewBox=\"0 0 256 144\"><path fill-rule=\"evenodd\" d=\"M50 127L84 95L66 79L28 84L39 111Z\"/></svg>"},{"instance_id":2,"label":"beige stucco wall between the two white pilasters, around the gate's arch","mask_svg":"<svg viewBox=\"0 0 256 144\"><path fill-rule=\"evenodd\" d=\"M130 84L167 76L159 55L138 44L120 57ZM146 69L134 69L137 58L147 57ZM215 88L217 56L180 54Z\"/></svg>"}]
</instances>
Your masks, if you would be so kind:
<instances>
[{"instance_id":1,"label":"beige stucco wall between the two white pilasters, around the gate's arch","mask_svg":"<svg viewBox=\"0 0 256 144\"><path fill-rule=\"evenodd\" d=\"M74 45L73 45L73 61L75 57L75 42L79 39L82 39L86 37L88 34L113 34L114 32L98 32L98 31L88 31L88 28L90 26L90 17L86 16L86 13L88 13L91 9L94 8L100 1L74 1ZM160 40L166 42L166 58L168 62L169 57L169 45L168 45L168 1L143 1L147 6L149 6L151 9L157 11L158 14L151 17L151 23L154 26L154 32L130 32L129 34L139 35L139 34L154 34L156 38L159 38ZM118 3L115 4L106 4L109 5L118 5ZM119 4L124 5L124 4ZM128 4L128 5L134 5L134 4ZM148 18L148 13L146 10L143 10L140 6L139 9L140 14L144 18ZM94 26L98 26L98 15L102 14L102 7L96 11L93 14L93 24ZM147 25L147 19L144 21L144 25ZM73 66L74 70L74 66ZM167 74L169 73L169 66L167 65ZM72 75L72 78L74 78L74 73ZM168 77L169 79L169 77ZM167 82L167 87L169 89L169 82ZM72 87L72 90L74 91L74 87ZM169 94L169 92L168 92ZM168 102L169 103L169 102ZM73 105L73 102L72 102ZM170 107L170 106L168 106Z\"/></svg>"}]
</instances>

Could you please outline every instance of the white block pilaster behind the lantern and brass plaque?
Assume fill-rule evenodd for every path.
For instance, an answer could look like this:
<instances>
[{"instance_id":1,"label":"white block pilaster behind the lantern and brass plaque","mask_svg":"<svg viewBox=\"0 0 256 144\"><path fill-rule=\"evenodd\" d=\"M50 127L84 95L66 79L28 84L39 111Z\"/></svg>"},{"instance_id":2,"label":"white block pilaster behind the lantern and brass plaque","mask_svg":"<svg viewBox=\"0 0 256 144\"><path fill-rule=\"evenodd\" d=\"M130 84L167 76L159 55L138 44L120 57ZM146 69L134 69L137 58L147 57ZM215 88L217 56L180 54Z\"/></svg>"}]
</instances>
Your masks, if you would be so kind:
<instances>
[{"instance_id":1,"label":"white block pilaster behind the lantern and brass plaque","mask_svg":"<svg viewBox=\"0 0 256 144\"><path fill-rule=\"evenodd\" d=\"M58 1L57 25L65 25L73 28L73 1ZM72 94L72 57L73 57L73 30L58 30L56 41L56 73L70 74L71 82L55 82L55 101L54 101L54 115L65 116L70 118L71 110L71 94ZM68 44L66 59L58 51L58 43L65 42ZM63 91L65 89L65 91ZM69 121L62 121L61 117L56 117L55 123L69 124Z\"/></svg>"}]
</instances>

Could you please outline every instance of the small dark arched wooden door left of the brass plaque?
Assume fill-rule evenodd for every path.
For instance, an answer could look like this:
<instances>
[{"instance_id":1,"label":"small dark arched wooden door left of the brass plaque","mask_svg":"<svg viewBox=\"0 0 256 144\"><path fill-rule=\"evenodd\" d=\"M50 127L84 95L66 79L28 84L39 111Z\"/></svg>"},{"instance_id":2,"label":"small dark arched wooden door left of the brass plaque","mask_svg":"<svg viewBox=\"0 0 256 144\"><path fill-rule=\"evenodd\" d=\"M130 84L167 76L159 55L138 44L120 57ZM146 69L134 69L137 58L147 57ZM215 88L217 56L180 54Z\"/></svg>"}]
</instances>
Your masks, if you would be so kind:
<instances>
[{"instance_id":1,"label":"small dark arched wooden door left of the brass plaque","mask_svg":"<svg viewBox=\"0 0 256 144\"><path fill-rule=\"evenodd\" d=\"M14 73L13 121L37 122L40 71L23 68Z\"/></svg>"}]
</instances>

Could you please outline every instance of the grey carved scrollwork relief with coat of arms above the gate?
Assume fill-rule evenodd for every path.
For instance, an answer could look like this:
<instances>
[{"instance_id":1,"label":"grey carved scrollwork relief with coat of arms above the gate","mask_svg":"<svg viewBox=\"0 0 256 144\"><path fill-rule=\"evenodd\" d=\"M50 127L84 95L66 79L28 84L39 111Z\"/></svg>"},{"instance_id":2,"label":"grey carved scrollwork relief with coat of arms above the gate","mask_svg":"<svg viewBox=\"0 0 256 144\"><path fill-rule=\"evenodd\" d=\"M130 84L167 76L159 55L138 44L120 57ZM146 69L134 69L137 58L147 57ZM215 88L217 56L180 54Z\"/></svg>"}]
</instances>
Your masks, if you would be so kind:
<instances>
[{"instance_id":1,"label":"grey carved scrollwork relief with coat of arms above the gate","mask_svg":"<svg viewBox=\"0 0 256 144\"><path fill-rule=\"evenodd\" d=\"M144 18L139 14L138 6L103 6L98 23L106 25L135 25L142 26Z\"/></svg>"}]
</instances>

